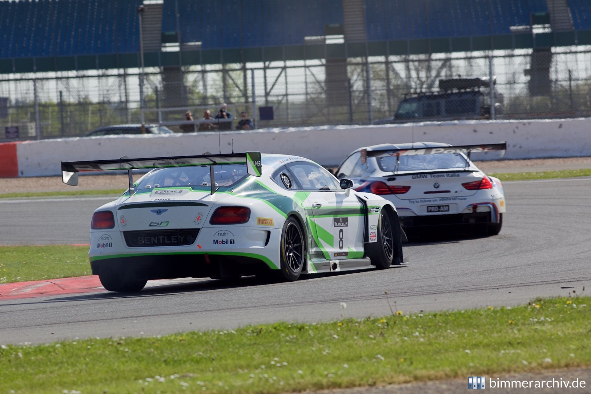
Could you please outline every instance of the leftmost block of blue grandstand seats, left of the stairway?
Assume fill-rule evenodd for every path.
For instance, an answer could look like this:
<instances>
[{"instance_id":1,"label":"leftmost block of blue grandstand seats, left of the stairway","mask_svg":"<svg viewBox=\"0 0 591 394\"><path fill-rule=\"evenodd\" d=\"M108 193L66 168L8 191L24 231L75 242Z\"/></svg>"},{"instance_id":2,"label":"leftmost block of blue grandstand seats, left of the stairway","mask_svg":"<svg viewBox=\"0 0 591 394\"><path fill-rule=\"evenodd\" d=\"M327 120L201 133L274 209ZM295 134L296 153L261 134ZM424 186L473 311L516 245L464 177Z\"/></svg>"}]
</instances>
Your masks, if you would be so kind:
<instances>
[{"instance_id":1,"label":"leftmost block of blue grandstand seats, left of the stairway","mask_svg":"<svg viewBox=\"0 0 591 394\"><path fill-rule=\"evenodd\" d=\"M0 1L0 57L137 52L141 0Z\"/></svg>"}]
</instances>

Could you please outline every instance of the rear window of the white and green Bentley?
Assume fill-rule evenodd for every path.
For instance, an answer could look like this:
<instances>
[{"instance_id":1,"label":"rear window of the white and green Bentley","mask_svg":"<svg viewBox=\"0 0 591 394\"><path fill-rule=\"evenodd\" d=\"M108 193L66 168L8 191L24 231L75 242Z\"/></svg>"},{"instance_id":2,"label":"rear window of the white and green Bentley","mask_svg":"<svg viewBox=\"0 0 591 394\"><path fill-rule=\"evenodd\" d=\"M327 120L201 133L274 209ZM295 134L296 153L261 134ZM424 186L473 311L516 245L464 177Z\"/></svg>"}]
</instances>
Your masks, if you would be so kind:
<instances>
[{"instance_id":1,"label":"rear window of the white and green Bentley","mask_svg":"<svg viewBox=\"0 0 591 394\"><path fill-rule=\"evenodd\" d=\"M210 166L157 168L145 174L137 189L171 186L210 186ZM214 179L219 187L232 187L248 176L246 164L214 165Z\"/></svg>"}]
</instances>

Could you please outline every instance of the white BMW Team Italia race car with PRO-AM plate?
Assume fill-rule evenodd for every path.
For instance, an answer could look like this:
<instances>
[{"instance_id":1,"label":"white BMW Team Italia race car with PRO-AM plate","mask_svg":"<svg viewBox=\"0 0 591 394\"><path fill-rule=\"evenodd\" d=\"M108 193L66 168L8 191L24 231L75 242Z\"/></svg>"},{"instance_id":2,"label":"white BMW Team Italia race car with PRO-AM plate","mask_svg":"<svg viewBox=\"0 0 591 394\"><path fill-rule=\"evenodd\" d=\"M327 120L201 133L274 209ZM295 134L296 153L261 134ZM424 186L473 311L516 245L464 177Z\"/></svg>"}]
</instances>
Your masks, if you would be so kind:
<instances>
[{"instance_id":1,"label":"white BMW Team Italia race car with PRO-AM plate","mask_svg":"<svg viewBox=\"0 0 591 394\"><path fill-rule=\"evenodd\" d=\"M337 178L352 180L357 191L391 201L403 229L479 224L488 235L497 235L506 210L503 186L497 178L480 171L470 160L470 154L504 154L505 150L505 142L465 146L437 142L374 145L352 152L336 174Z\"/></svg>"}]
</instances>

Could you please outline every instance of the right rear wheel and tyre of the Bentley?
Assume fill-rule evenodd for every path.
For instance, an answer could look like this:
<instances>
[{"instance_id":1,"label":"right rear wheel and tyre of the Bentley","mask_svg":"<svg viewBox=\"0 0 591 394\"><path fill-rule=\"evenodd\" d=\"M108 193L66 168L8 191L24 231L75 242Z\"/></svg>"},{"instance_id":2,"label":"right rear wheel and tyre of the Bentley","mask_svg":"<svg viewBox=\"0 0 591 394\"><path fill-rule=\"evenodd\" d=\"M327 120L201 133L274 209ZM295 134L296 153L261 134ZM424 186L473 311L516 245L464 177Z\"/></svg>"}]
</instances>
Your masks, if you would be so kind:
<instances>
[{"instance_id":1,"label":"right rear wheel and tyre of the Bentley","mask_svg":"<svg viewBox=\"0 0 591 394\"><path fill-rule=\"evenodd\" d=\"M290 216L283 224L281 231L281 268L277 272L278 279L285 282L297 281L306 264L306 238L300 223Z\"/></svg>"}]
</instances>

